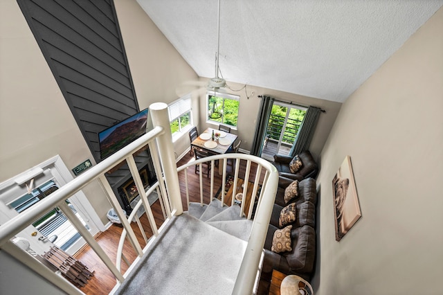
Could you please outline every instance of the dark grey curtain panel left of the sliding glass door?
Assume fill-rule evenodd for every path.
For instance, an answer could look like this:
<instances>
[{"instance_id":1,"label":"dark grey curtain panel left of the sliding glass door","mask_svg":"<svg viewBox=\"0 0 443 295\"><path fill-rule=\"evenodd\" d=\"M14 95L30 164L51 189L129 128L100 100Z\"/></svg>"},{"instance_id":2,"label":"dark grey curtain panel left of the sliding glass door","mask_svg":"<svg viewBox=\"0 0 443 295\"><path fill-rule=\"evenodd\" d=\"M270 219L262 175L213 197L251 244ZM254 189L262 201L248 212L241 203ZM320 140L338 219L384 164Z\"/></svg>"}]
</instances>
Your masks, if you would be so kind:
<instances>
[{"instance_id":1,"label":"dark grey curtain panel left of the sliding glass door","mask_svg":"<svg viewBox=\"0 0 443 295\"><path fill-rule=\"evenodd\" d=\"M257 125L255 125L255 136L252 142L251 154L260 157L263 150L264 136L268 127L269 116L271 116L274 98L263 96L260 104L260 110L257 116Z\"/></svg>"}]
</instances>

